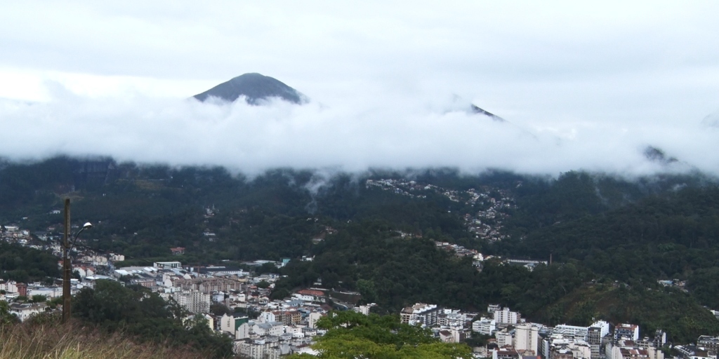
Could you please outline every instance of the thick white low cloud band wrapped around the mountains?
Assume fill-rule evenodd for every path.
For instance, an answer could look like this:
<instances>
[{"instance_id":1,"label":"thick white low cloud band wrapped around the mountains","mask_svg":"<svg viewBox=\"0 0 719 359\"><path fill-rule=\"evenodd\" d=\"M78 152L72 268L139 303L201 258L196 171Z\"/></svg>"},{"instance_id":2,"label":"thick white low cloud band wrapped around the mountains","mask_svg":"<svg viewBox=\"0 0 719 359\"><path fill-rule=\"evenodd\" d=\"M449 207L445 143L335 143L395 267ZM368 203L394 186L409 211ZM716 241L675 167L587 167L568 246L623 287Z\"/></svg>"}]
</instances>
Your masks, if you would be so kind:
<instances>
[{"instance_id":1,"label":"thick white low cloud band wrapped around the mountains","mask_svg":"<svg viewBox=\"0 0 719 359\"><path fill-rule=\"evenodd\" d=\"M482 106L481 103L477 103ZM84 98L56 91L54 101L0 101L0 157L110 156L174 166L266 169L456 167L551 174L586 169L641 175L698 169L719 175L719 129L687 119L618 124L513 123L467 111L452 95L348 98L265 106L156 98ZM490 110L491 111L491 110ZM497 113L503 116L503 113ZM647 146L679 162L651 161Z\"/></svg>"}]
</instances>

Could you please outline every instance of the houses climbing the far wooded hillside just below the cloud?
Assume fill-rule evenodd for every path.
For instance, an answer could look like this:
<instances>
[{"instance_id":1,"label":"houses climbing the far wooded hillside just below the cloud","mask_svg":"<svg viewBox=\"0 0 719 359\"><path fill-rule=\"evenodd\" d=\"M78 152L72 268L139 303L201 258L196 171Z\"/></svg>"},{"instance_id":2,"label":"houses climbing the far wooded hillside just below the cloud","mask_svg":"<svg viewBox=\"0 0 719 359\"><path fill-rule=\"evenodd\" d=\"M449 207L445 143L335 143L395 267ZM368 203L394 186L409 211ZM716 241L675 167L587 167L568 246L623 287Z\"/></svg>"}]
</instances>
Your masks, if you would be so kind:
<instances>
[{"instance_id":1,"label":"houses climbing the far wooded hillside just below the cloud","mask_svg":"<svg viewBox=\"0 0 719 359\"><path fill-rule=\"evenodd\" d=\"M482 186L480 190L470 188L459 191L446 190L435 185L422 185L409 180L383 179L367 180L365 187L377 187L412 198L426 198L426 193L430 191L444 195L454 202L469 205L473 210L478 210L463 216L467 230L473 233L475 238L483 238L487 241L501 241L507 238L507 234L503 233L503 221L509 217L508 210L516 208L514 198L508 191L490 186Z\"/></svg>"}]
</instances>

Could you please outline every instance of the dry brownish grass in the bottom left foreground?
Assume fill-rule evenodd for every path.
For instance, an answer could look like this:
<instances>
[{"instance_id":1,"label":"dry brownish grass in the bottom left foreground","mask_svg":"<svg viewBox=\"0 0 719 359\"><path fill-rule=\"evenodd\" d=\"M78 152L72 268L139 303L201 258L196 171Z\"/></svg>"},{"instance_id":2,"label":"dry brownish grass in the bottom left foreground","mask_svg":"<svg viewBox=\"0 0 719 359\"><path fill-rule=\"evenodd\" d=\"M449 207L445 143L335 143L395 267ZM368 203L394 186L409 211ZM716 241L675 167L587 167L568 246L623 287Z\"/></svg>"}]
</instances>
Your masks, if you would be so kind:
<instances>
[{"instance_id":1,"label":"dry brownish grass in the bottom left foreground","mask_svg":"<svg viewBox=\"0 0 719 359\"><path fill-rule=\"evenodd\" d=\"M59 324L56 318L0 327L0 359L145 359L207 358L189 350L137 344L78 322Z\"/></svg>"}]
</instances>

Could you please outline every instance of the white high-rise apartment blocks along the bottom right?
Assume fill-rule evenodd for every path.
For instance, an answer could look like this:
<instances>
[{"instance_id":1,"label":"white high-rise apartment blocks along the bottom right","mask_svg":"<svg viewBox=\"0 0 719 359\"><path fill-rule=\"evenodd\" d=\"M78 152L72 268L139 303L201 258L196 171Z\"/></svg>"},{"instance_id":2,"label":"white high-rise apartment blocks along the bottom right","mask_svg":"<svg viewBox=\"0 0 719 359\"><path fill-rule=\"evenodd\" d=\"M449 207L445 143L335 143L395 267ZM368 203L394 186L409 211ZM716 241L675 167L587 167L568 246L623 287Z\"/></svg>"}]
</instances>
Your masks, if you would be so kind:
<instances>
[{"instance_id":1,"label":"white high-rise apartment blocks along the bottom right","mask_svg":"<svg viewBox=\"0 0 719 359\"><path fill-rule=\"evenodd\" d=\"M408 324L432 328L444 342L459 342L471 335L490 337L487 345L475 348L477 358L664 359L661 347L667 342L665 332L656 330L651 333L652 337L640 337L639 327L631 324L612 326L608 322L597 321L588 327L549 327L526 322L520 313L495 304L490 304L487 312L482 314L415 304L403 309L401 318ZM719 338L700 337L700 342L702 338L715 345L714 351L700 352L693 347L686 347L687 355L684 359L697 359L697 353L710 353L714 355L712 358L716 358ZM690 351L692 354L689 354Z\"/></svg>"}]
</instances>

